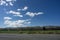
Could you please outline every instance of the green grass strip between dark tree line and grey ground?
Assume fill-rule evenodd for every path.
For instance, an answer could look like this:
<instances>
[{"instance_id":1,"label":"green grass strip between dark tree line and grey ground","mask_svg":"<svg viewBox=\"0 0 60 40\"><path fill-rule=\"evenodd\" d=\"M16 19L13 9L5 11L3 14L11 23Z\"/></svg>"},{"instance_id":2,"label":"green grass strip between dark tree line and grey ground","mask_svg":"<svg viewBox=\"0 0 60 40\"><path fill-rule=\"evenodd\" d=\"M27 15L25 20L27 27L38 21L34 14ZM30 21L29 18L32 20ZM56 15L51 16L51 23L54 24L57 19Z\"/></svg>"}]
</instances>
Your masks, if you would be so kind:
<instances>
[{"instance_id":1,"label":"green grass strip between dark tree line and grey ground","mask_svg":"<svg viewBox=\"0 0 60 40\"><path fill-rule=\"evenodd\" d=\"M60 30L34 30L34 31L0 31L0 33L14 33L14 34L60 34Z\"/></svg>"}]
</instances>

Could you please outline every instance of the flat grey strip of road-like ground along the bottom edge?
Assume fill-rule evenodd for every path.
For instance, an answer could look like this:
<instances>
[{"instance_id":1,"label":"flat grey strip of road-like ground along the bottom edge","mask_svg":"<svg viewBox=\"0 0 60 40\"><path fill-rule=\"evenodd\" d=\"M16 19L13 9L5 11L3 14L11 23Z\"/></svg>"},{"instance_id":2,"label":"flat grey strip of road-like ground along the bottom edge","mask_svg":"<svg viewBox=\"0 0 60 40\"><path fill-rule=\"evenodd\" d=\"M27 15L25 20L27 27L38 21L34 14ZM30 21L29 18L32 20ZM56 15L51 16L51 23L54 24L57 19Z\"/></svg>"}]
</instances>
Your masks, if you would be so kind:
<instances>
[{"instance_id":1,"label":"flat grey strip of road-like ground along the bottom edge","mask_svg":"<svg viewBox=\"0 0 60 40\"><path fill-rule=\"evenodd\" d=\"M60 40L56 34L0 34L0 40Z\"/></svg>"}]
</instances>

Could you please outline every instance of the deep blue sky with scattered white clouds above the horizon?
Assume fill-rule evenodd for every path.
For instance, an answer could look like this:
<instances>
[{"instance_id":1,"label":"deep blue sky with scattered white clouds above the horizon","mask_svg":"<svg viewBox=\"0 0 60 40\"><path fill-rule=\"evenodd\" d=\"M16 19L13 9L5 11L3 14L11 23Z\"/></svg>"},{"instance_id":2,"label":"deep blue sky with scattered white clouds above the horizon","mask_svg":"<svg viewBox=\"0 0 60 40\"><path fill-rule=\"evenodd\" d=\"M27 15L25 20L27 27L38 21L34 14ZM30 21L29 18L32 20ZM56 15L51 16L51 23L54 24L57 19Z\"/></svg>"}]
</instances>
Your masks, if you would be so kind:
<instances>
[{"instance_id":1,"label":"deep blue sky with scattered white clouds above the horizon","mask_svg":"<svg viewBox=\"0 0 60 40\"><path fill-rule=\"evenodd\" d=\"M0 0L0 27L60 25L60 0Z\"/></svg>"}]
</instances>

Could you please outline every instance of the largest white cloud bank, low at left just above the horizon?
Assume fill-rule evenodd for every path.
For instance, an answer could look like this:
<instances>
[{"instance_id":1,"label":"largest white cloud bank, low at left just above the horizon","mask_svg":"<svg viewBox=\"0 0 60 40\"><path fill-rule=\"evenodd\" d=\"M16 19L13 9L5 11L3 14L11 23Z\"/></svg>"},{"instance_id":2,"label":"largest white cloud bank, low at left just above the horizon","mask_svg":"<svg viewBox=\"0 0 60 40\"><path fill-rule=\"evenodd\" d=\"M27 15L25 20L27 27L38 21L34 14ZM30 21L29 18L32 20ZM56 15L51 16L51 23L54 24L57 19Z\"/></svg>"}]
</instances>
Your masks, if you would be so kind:
<instances>
[{"instance_id":1,"label":"largest white cloud bank, low at left just above the horizon","mask_svg":"<svg viewBox=\"0 0 60 40\"><path fill-rule=\"evenodd\" d=\"M16 20L16 21L11 21L11 20L5 20L4 24L7 27L25 27L26 25L30 24L31 22L28 20Z\"/></svg>"}]
</instances>

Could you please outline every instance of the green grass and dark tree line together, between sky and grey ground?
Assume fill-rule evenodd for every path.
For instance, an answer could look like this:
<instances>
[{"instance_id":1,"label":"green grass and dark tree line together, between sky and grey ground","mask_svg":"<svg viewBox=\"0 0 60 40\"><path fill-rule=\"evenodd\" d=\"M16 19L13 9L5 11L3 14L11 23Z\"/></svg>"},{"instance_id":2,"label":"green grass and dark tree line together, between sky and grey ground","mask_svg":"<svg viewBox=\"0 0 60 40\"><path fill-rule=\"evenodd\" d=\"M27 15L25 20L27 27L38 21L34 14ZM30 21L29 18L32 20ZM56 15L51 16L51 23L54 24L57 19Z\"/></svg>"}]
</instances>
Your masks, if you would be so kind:
<instances>
[{"instance_id":1,"label":"green grass and dark tree line together, between sky and grey ground","mask_svg":"<svg viewBox=\"0 0 60 40\"><path fill-rule=\"evenodd\" d=\"M17 34L60 34L60 26L36 26L20 28L0 28L0 33Z\"/></svg>"}]
</instances>

